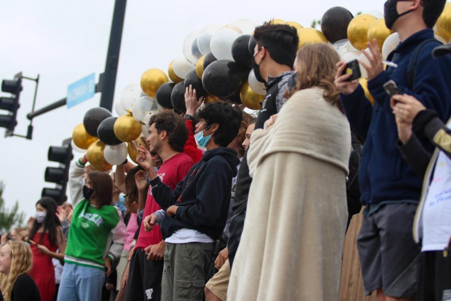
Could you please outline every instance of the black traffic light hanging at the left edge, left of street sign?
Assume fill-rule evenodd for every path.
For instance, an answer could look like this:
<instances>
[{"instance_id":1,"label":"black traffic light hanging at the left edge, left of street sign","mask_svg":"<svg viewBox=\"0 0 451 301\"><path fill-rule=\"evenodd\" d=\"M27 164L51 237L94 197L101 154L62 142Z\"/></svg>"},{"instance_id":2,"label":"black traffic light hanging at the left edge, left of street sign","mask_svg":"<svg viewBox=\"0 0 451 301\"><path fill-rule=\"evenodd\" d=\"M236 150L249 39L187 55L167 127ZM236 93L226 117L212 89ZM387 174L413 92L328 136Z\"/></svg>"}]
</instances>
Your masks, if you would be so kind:
<instances>
[{"instance_id":1,"label":"black traffic light hanging at the left edge, left of street sign","mask_svg":"<svg viewBox=\"0 0 451 301\"><path fill-rule=\"evenodd\" d=\"M14 80L4 79L2 91L11 93L11 97L0 97L0 109L7 110L7 115L0 115L0 127L5 127L5 137L12 136L17 125L17 110L19 109L19 96L22 91L22 73L16 74Z\"/></svg>"}]
</instances>

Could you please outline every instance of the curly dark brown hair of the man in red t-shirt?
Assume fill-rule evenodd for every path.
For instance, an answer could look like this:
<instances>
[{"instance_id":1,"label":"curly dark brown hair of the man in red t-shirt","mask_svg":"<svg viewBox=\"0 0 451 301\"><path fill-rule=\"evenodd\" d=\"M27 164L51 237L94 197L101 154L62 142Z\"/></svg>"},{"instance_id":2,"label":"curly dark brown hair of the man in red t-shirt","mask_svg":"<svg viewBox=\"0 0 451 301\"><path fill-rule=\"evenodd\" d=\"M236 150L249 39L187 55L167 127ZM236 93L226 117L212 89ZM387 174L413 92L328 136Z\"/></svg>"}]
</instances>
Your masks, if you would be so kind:
<instances>
[{"instance_id":1,"label":"curly dark brown hair of the man in red t-shirt","mask_svg":"<svg viewBox=\"0 0 451 301\"><path fill-rule=\"evenodd\" d=\"M150 118L149 125L152 123L155 123L158 133L166 131L168 143L176 152L183 152L188 130L182 117L173 112L160 112Z\"/></svg>"}]
</instances>

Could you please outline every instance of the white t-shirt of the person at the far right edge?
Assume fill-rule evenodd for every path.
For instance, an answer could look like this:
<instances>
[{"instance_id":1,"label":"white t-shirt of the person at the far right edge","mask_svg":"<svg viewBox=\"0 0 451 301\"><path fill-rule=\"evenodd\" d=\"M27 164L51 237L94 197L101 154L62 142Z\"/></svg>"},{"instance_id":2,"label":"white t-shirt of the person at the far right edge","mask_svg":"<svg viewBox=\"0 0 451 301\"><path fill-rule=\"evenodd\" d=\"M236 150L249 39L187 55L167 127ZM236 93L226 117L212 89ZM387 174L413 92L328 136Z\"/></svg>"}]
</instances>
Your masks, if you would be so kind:
<instances>
[{"instance_id":1,"label":"white t-shirt of the person at the far right edge","mask_svg":"<svg viewBox=\"0 0 451 301\"><path fill-rule=\"evenodd\" d=\"M440 152L423 206L421 251L441 251L451 236L451 160Z\"/></svg>"}]
</instances>

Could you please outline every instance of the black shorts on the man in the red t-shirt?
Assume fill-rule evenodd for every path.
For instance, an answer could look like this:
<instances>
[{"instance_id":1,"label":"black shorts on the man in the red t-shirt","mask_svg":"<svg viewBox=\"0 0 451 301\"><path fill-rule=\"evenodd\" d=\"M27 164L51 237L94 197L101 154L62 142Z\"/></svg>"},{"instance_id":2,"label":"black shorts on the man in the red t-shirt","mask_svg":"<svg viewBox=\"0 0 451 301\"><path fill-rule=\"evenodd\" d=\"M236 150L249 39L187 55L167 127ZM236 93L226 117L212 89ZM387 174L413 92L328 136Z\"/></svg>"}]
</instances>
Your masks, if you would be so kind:
<instances>
[{"instance_id":1,"label":"black shorts on the man in the red t-shirt","mask_svg":"<svg viewBox=\"0 0 451 301\"><path fill-rule=\"evenodd\" d=\"M130 259L125 301L159 301L163 264L163 260L147 260L143 249L136 250Z\"/></svg>"}]
</instances>

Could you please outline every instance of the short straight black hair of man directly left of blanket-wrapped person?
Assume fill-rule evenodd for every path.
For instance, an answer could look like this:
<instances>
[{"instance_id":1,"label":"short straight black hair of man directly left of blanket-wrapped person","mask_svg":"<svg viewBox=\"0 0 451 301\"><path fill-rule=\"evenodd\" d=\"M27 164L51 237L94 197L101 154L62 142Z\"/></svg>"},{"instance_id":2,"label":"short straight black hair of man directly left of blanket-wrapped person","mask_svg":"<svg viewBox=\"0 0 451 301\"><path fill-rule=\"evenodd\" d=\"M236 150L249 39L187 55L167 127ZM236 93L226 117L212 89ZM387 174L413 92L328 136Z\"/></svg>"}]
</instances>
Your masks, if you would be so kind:
<instances>
[{"instance_id":1,"label":"short straight black hair of man directly left of blanket-wrapped person","mask_svg":"<svg viewBox=\"0 0 451 301\"><path fill-rule=\"evenodd\" d=\"M259 50L261 47L265 47L276 63L293 67L299 45L296 28L289 25L265 23L256 27L254 38L259 45Z\"/></svg>"}]
</instances>

